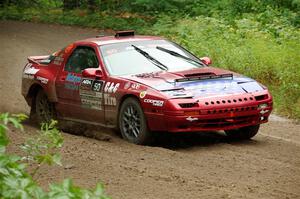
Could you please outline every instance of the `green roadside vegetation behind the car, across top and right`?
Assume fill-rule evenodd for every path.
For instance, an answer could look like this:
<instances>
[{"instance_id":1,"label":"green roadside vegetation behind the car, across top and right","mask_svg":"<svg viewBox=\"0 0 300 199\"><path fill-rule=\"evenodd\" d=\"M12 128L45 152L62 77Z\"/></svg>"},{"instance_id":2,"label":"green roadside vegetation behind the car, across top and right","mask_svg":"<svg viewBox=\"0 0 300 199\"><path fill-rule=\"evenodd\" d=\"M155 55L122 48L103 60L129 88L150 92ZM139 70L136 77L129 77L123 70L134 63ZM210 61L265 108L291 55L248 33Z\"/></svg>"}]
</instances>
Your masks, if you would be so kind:
<instances>
[{"instance_id":1,"label":"green roadside vegetation behind the car, across top and right","mask_svg":"<svg viewBox=\"0 0 300 199\"><path fill-rule=\"evenodd\" d=\"M300 118L299 0L5 0L0 19L135 29L175 40L216 67L267 85Z\"/></svg>"}]
</instances>

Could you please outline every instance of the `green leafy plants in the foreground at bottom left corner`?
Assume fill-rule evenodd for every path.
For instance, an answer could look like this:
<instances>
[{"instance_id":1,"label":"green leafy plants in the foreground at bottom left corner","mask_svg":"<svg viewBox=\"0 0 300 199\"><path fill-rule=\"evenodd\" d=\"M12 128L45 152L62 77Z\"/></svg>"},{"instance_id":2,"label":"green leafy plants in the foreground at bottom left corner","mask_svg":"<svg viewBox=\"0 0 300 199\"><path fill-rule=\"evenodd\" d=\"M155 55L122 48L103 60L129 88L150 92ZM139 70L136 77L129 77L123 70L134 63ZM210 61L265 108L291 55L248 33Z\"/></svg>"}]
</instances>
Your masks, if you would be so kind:
<instances>
[{"instance_id":1,"label":"green leafy plants in the foreground at bottom left corner","mask_svg":"<svg viewBox=\"0 0 300 199\"><path fill-rule=\"evenodd\" d=\"M22 160L31 160L38 165L46 163L60 164L60 158L56 156L55 150L62 146L62 136L56 129L56 122L43 124L41 132L35 138L29 139L23 149L28 152L24 158L5 153L8 145L6 131L8 125L22 130L21 121L26 117L20 115L0 114L0 198L1 199L61 199L61 198L84 198L84 199L108 199L104 194L101 184L95 189L87 190L73 185L70 179L65 179L61 184L50 184L49 191L45 192L26 173L26 164ZM34 140L36 139L36 140Z\"/></svg>"}]
</instances>

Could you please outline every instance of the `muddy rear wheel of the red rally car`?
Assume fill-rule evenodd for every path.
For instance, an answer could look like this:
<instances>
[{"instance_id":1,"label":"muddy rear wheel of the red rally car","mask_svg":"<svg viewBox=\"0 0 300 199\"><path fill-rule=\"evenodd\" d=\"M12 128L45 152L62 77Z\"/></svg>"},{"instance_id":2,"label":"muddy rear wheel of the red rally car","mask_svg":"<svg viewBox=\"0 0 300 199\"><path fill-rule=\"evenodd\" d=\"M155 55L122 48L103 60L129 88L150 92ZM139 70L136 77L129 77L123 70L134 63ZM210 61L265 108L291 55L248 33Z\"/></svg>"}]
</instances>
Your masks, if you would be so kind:
<instances>
[{"instance_id":1,"label":"muddy rear wheel of the red rally car","mask_svg":"<svg viewBox=\"0 0 300 199\"><path fill-rule=\"evenodd\" d=\"M56 119L54 103L49 101L43 90L38 91L34 105L36 120L39 124L50 122L51 119Z\"/></svg>"}]
</instances>

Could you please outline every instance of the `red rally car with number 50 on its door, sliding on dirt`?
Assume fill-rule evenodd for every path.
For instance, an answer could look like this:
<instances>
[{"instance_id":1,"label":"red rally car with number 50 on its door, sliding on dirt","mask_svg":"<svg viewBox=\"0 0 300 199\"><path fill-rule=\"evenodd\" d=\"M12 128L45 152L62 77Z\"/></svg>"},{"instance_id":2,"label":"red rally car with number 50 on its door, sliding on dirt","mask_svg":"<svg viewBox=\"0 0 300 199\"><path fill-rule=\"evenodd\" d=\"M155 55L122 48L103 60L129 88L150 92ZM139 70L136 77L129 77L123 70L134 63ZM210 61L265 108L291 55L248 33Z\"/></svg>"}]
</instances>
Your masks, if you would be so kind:
<instances>
[{"instance_id":1,"label":"red rally car with number 50 on its door, sliding on dirt","mask_svg":"<svg viewBox=\"0 0 300 199\"><path fill-rule=\"evenodd\" d=\"M210 64L171 41L122 31L28 57L22 94L39 122L117 128L136 144L155 131L224 130L250 139L268 121L272 96L255 80Z\"/></svg>"}]
</instances>

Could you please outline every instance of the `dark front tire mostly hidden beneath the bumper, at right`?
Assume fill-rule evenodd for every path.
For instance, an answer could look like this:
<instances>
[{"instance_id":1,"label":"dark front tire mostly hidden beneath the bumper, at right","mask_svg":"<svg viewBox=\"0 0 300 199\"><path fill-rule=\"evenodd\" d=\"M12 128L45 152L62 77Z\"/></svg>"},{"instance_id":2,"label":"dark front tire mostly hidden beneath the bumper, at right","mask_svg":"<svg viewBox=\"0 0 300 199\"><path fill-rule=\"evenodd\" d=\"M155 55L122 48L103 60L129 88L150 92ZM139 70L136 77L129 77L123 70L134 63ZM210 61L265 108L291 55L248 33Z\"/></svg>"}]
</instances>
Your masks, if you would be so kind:
<instances>
[{"instance_id":1,"label":"dark front tire mostly hidden beneath the bumper, at right","mask_svg":"<svg viewBox=\"0 0 300 199\"><path fill-rule=\"evenodd\" d=\"M247 140L254 137L258 133L258 130L259 125L255 125L242 127L239 129L225 130L225 133L229 138Z\"/></svg>"}]
</instances>

